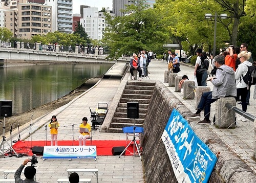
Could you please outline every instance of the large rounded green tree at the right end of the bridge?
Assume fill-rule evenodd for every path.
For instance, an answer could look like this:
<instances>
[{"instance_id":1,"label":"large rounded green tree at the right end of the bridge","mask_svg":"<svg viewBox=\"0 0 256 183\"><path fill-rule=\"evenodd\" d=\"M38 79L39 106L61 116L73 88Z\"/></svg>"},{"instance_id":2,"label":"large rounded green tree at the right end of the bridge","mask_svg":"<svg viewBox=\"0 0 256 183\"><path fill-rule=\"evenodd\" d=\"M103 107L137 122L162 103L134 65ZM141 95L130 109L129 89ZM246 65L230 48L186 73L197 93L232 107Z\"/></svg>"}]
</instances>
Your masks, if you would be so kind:
<instances>
[{"instance_id":1,"label":"large rounded green tree at the right end of the bridge","mask_svg":"<svg viewBox=\"0 0 256 183\"><path fill-rule=\"evenodd\" d=\"M122 54L131 55L142 49L154 51L162 47L168 38L165 14L146 7L143 1L138 1L136 5L127 6L123 10L126 16L113 18L104 13L108 27L105 28L102 42L109 46L110 58L119 58Z\"/></svg>"}]
</instances>

